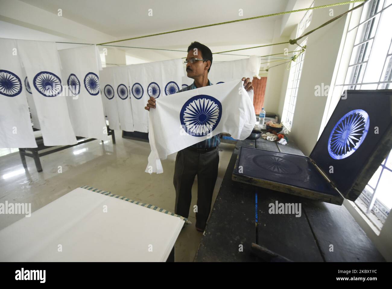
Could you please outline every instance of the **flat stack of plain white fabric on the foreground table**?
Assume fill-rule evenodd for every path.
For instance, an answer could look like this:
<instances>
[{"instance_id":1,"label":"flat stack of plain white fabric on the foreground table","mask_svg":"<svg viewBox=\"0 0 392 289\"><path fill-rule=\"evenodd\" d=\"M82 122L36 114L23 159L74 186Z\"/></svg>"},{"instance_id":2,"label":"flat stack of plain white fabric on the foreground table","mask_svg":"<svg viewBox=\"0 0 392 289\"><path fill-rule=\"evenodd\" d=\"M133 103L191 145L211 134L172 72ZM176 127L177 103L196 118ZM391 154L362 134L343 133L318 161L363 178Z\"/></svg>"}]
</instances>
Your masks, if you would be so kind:
<instances>
[{"instance_id":1,"label":"flat stack of plain white fabric on the foreground table","mask_svg":"<svg viewBox=\"0 0 392 289\"><path fill-rule=\"evenodd\" d=\"M183 224L76 188L1 230L0 262L165 262Z\"/></svg>"}]
</instances>

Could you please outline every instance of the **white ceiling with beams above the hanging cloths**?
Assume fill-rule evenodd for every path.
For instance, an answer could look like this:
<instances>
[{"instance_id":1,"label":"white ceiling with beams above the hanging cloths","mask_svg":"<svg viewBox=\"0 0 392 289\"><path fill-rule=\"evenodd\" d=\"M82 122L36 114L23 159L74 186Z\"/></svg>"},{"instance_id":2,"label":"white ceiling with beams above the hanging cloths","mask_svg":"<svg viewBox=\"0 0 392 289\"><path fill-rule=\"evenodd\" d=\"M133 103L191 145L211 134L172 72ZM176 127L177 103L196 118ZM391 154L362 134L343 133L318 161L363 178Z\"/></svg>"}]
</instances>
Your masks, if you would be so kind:
<instances>
[{"instance_id":1,"label":"white ceiling with beams above the hanging cloths","mask_svg":"<svg viewBox=\"0 0 392 289\"><path fill-rule=\"evenodd\" d=\"M0 0L0 28L7 27L9 37L35 37L36 40L102 43L124 38L162 33L292 10L294 5L309 7L309 0ZM4 8L4 9L1 9ZM298 7L295 7L298 9ZM62 9L62 16L58 16ZM152 9L152 16L149 16ZM243 16L239 16L242 9ZM1 12L3 11L3 12ZM297 17L302 17L298 14ZM260 46L274 38L288 37L293 29L285 26L287 16L272 16L232 24L192 29L176 33L116 42L116 46L178 49L186 51L192 41L199 41L212 52ZM286 21L284 21L286 20ZM285 22L285 23L283 23ZM291 22L293 20L291 19ZM296 20L294 19L294 22ZM298 22L296 22L298 23ZM15 29L12 29L14 26ZM11 28L10 28L11 27ZM28 29L25 35L20 29ZM18 28L18 29L16 29ZM289 30L287 30L289 29ZM31 30L37 34L31 33ZM27 30L26 30L27 31ZM281 35L285 31L286 35ZM20 36L18 36L19 34ZM44 34L46 37L44 37ZM73 46L64 46L64 48ZM156 61L185 57L186 52L122 48L132 57ZM230 52L239 55L214 55L217 61L244 58L242 55L265 55L271 47Z\"/></svg>"}]
</instances>

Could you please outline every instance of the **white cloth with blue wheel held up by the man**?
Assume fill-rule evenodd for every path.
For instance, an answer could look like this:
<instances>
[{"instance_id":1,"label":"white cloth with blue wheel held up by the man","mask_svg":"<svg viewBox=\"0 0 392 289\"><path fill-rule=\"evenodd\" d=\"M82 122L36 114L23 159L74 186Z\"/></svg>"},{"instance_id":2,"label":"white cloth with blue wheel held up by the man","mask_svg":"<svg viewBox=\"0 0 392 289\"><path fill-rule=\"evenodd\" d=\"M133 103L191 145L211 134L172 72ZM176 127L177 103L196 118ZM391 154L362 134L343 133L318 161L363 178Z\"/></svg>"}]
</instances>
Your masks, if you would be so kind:
<instances>
[{"instance_id":1,"label":"white cloth with blue wheel held up by the man","mask_svg":"<svg viewBox=\"0 0 392 289\"><path fill-rule=\"evenodd\" d=\"M158 98L149 112L151 154L145 172L162 173L160 159L221 132L245 139L256 123L253 90L242 80Z\"/></svg>"}]
</instances>

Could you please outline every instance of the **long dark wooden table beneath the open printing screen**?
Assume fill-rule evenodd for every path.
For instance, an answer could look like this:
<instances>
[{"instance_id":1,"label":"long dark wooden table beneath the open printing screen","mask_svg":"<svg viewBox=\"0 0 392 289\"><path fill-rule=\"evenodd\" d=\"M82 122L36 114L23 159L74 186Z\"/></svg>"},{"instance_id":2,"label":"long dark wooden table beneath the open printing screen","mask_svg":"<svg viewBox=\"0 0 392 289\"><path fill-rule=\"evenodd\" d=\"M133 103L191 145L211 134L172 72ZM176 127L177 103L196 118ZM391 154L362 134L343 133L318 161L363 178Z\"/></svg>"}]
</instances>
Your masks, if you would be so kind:
<instances>
[{"instance_id":1,"label":"long dark wooden table beneath the open printing screen","mask_svg":"<svg viewBox=\"0 0 392 289\"><path fill-rule=\"evenodd\" d=\"M285 146L262 138L238 141L195 262L259 261L250 253L252 242L295 262L385 261L344 206L232 181L240 146L303 155L292 141ZM301 203L301 216L269 214L269 204L276 201ZM239 250L240 245L243 245L243 252ZM333 245L333 252L330 252L330 245Z\"/></svg>"}]
</instances>

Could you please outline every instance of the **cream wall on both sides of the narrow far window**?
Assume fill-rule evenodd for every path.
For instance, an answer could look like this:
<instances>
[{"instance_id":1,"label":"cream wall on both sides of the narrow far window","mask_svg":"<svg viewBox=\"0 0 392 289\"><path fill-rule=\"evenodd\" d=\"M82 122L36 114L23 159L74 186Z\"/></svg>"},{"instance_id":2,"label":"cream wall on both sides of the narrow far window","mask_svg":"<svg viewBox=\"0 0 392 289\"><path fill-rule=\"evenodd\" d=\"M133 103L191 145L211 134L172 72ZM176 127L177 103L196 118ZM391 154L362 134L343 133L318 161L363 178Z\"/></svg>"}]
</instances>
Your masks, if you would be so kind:
<instances>
[{"instance_id":1,"label":"cream wall on both sides of the narrow far window","mask_svg":"<svg viewBox=\"0 0 392 289\"><path fill-rule=\"evenodd\" d=\"M316 0L314 5L326 5L335 3L334 0ZM348 5L340 5L332 8L334 16L348 9ZM329 16L329 9L313 10L312 22L305 30L314 29L334 16ZM316 97L316 85L330 85L334 73L336 59L339 53L342 35L344 32L346 16L334 21L308 36L307 49L303 63L301 80L298 88L298 99L294 111L294 119L289 134L305 155L309 155L318 139L320 125L323 119L327 96ZM292 31L290 39L295 38L296 28ZM275 39L274 39L275 40ZM287 41L288 39L285 39ZM303 41L299 40L299 43ZM283 48L289 51L296 49L294 45L279 45L272 53L283 52ZM294 49L293 49L294 48ZM279 51L279 52L278 52ZM265 90L265 109L267 112L275 112L281 118L284 99L287 90L289 71L285 65L271 68L268 71L267 87Z\"/></svg>"}]
</instances>

